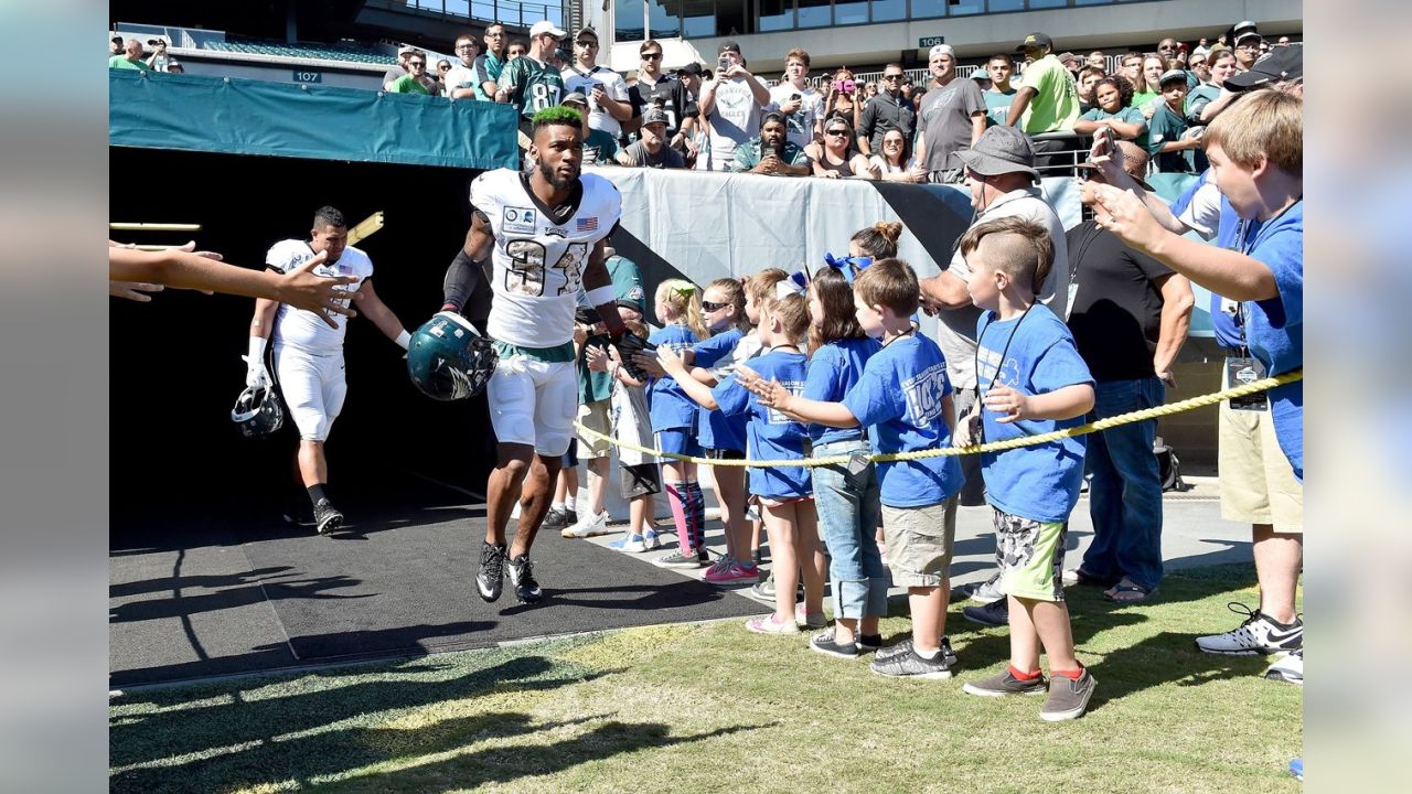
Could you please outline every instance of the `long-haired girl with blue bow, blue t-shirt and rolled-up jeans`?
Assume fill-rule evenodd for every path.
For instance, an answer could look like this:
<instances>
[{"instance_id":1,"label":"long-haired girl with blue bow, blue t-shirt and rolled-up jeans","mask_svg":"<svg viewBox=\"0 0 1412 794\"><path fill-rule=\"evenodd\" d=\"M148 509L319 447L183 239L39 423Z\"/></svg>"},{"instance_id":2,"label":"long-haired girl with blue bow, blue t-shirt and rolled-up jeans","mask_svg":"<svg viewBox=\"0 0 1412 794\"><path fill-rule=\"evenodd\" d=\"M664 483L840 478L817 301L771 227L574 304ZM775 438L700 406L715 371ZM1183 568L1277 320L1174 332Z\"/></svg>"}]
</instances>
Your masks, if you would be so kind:
<instances>
[{"instance_id":1,"label":"long-haired girl with blue bow, blue t-shirt and rolled-up jeans","mask_svg":"<svg viewBox=\"0 0 1412 794\"><path fill-rule=\"evenodd\" d=\"M846 264L844 267L853 267ZM863 366L881 349L858 325L849 275L834 267L819 270L809 283L809 374L803 396L820 403L839 403L858 381ZM863 427L834 428L810 424L813 458L867 455ZM881 526L878 479L873 463L850 473L847 466L813 469L813 494L819 511L819 534L829 550L833 579L833 629L809 641L813 650L837 657L856 657L858 646L880 647L878 619L887 616L887 568L878 551Z\"/></svg>"}]
</instances>

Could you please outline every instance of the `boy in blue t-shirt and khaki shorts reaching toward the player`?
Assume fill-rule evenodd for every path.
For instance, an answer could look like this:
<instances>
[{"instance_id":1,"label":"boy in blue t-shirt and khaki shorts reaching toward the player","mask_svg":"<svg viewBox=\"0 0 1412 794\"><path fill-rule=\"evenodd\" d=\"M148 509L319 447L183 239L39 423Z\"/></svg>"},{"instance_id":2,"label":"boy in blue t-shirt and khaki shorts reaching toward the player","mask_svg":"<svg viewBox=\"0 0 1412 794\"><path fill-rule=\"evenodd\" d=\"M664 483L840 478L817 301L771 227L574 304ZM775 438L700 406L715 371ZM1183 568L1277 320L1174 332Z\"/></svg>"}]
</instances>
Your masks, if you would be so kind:
<instances>
[{"instance_id":1,"label":"boy in blue t-shirt and khaki shorts reaching toward the player","mask_svg":"<svg viewBox=\"0 0 1412 794\"><path fill-rule=\"evenodd\" d=\"M912 326L918 295L916 273L902 260L878 260L858 274L853 283L858 325L881 339L882 349L867 360L843 401L806 400L758 379L747 386L761 403L801 421L868 425L877 454L949 446L952 384L940 348ZM950 678L956 656L946 641L946 605L956 513L947 507L962 487L960 463L952 456L880 462L877 476L887 562L892 583L907 588L912 639L878 651L873 672Z\"/></svg>"}]
</instances>

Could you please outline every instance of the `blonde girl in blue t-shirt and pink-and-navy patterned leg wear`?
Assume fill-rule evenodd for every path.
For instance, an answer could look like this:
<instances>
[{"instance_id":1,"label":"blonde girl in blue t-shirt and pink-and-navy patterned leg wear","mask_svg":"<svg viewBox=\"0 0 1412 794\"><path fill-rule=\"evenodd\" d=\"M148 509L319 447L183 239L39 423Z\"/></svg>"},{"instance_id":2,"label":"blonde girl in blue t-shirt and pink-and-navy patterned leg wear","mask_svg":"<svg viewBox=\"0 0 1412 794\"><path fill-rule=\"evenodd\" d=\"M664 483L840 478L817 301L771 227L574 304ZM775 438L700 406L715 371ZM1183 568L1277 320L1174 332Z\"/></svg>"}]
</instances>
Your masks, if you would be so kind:
<instances>
[{"instance_id":1,"label":"blonde girl in blue t-shirt and pink-and-navy patterned leg wear","mask_svg":"<svg viewBox=\"0 0 1412 794\"><path fill-rule=\"evenodd\" d=\"M659 350L690 349L706 336L700 291L690 281L671 278L657 288L657 321L662 329L648 338ZM676 380L659 377L648 389L648 405L657 448L678 455L700 455L696 444L696 404ZM668 568L700 568L706 562L706 497L696 482L696 463L662 458L662 486L672 521L676 551L658 559Z\"/></svg>"}]
</instances>

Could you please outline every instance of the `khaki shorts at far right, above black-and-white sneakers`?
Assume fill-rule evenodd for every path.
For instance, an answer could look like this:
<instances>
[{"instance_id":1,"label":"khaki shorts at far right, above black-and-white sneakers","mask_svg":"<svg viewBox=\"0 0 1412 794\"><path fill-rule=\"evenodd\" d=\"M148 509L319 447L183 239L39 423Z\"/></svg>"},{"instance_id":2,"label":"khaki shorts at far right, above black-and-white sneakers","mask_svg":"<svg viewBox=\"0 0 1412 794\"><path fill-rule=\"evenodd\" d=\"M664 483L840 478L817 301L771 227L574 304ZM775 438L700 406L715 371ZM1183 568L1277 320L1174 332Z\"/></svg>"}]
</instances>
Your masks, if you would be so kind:
<instances>
[{"instance_id":1,"label":"khaki shorts at far right, above black-and-white sneakers","mask_svg":"<svg viewBox=\"0 0 1412 794\"><path fill-rule=\"evenodd\" d=\"M1230 403L1221 403L1219 425L1221 519L1302 534L1305 489L1275 441L1269 411L1233 411Z\"/></svg>"}]
</instances>

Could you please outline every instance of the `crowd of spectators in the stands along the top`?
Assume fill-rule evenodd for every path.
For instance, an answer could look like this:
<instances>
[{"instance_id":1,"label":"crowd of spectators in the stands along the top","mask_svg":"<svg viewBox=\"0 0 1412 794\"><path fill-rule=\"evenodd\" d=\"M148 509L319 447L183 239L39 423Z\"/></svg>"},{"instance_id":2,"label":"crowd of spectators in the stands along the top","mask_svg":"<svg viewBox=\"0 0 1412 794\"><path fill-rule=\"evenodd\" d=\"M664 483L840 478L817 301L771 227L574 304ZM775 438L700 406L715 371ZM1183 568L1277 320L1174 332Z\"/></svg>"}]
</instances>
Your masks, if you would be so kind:
<instances>
[{"instance_id":1,"label":"crowd of spectators in the stands along the top","mask_svg":"<svg viewBox=\"0 0 1412 794\"><path fill-rule=\"evenodd\" d=\"M1103 134L1144 147L1152 172L1197 174L1206 168L1202 134L1236 96L1226 81L1288 45L1288 37L1272 45L1255 23L1241 21L1195 45L1165 37L1151 52L1124 52L1110 71L1107 52L1055 52L1053 41L1035 32L1014 52L977 66L962 66L956 51L939 44L928 52L929 78L916 85L901 64L885 65L875 82L856 79L849 68L810 75L810 55L801 48L785 55L784 73L755 75L734 41L720 42L714 68L689 62L666 73L661 44L648 40L638 48L638 69L621 75L597 62L593 28L570 37L541 21L528 41L514 41L494 23L479 38L459 35L455 61L433 64L425 51L402 47L381 85L395 93L508 102L522 119L554 105L579 106L569 97L582 96L587 129L600 138L600 165L959 184L964 168L956 154L987 127L1010 124L1035 138L1042 171L1076 164L1086 137ZM147 47L114 37L110 68L184 71L165 40ZM518 58L528 61L507 69ZM788 153L765 136L771 113L784 124ZM648 116L665 117L661 136L644 130ZM897 133L891 144L890 131ZM521 148L528 144L522 133L524 123ZM634 148L637 143L642 146ZM741 147L747 151L736 157Z\"/></svg>"}]
</instances>

